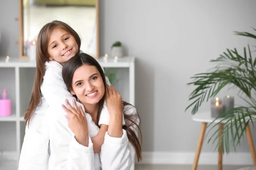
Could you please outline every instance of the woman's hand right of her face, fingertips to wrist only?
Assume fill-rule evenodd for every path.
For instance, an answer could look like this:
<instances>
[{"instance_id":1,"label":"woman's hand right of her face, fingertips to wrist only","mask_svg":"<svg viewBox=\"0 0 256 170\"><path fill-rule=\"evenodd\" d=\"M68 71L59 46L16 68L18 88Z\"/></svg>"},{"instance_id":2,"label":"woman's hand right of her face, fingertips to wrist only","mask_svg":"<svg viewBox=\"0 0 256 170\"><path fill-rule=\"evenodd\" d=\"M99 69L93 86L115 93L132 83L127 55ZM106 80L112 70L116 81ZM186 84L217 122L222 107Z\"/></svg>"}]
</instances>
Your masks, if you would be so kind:
<instances>
[{"instance_id":1,"label":"woman's hand right of her face, fingertips to wrist only","mask_svg":"<svg viewBox=\"0 0 256 170\"><path fill-rule=\"evenodd\" d=\"M122 104L122 96L113 85L107 85L106 103L110 114L122 113L124 105Z\"/></svg>"}]
</instances>

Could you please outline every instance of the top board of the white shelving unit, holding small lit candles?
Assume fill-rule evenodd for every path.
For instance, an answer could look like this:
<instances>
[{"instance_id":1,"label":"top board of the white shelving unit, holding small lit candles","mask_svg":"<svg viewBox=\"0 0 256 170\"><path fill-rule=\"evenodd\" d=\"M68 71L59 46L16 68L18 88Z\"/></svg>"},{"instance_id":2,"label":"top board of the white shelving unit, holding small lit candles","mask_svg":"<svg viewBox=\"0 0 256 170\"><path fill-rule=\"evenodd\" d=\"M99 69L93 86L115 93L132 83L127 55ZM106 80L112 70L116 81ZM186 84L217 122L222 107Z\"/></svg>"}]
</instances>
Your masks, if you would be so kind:
<instances>
[{"instance_id":1,"label":"top board of the white shelving unit, holding small lit candles","mask_svg":"<svg viewBox=\"0 0 256 170\"><path fill-rule=\"evenodd\" d=\"M134 57L121 57L117 62L115 62L113 57L108 57L107 61L104 60L104 57L100 57L97 61L105 68L128 68L130 67L130 64L134 62ZM1 67L35 68L36 62L25 59L14 59L11 57L9 62L5 62L5 57L0 57L0 68Z\"/></svg>"}]
</instances>

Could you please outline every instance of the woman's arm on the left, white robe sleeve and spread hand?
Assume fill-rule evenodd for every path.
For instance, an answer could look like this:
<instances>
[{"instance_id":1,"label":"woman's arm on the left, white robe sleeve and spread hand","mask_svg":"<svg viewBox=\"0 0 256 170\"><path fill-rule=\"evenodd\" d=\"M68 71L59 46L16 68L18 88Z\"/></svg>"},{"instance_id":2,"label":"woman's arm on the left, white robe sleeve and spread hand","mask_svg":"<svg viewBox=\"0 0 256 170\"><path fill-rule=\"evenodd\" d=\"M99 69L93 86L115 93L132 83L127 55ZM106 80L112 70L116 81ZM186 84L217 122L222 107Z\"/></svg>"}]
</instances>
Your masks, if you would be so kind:
<instances>
[{"instance_id":1,"label":"woman's arm on the left, white robe sleeve and spread hand","mask_svg":"<svg viewBox=\"0 0 256 170\"><path fill-rule=\"evenodd\" d=\"M67 104L68 105L68 104ZM68 105L67 118L54 113L56 108L49 107L49 170L94 170L93 144L88 136L87 122L77 109ZM72 113L71 113L72 112Z\"/></svg>"}]
</instances>

